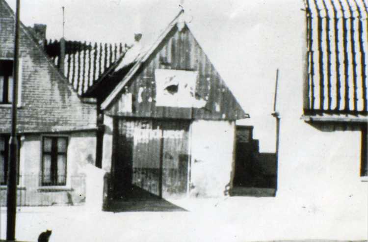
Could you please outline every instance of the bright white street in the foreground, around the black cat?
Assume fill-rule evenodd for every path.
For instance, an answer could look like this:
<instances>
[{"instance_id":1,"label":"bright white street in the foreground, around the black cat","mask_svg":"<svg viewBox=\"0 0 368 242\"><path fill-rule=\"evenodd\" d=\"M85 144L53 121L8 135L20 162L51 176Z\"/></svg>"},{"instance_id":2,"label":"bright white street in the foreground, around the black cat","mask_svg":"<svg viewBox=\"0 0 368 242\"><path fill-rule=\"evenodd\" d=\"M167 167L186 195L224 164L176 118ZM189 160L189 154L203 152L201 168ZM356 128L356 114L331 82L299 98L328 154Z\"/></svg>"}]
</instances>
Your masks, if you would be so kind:
<instances>
[{"instance_id":1,"label":"bright white street in the foreground, around the black cat","mask_svg":"<svg viewBox=\"0 0 368 242\"><path fill-rule=\"evenodd\" d=\"M367 213L343 215L326 207L278 198L184 199L171 203L188 212L100 212L87 207L25 207L17 214L18 240L50 242L240 242L269 240L364 240ZM349 214L346 216L346 214ZM1 208L1 239L6 210Z\"/></svg>"}]
</instances>

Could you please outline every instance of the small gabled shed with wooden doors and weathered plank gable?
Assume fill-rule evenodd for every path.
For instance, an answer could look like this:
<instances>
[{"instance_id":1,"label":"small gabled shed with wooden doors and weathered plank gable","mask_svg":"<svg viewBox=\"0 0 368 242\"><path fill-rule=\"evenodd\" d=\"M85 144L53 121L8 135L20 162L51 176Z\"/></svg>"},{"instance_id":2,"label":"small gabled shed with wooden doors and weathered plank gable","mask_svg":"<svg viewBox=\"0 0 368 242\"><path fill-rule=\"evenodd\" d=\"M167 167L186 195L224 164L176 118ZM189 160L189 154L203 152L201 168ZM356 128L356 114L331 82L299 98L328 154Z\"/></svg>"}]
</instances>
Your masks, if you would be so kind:
<instances>
[{"instance_id":1,"label":"small gabled shed with wooden doors and weathered plank gable","mask_svg":"<svg viewBox=\"0 0 368 242\"><path fill-rule=\"evenodd\" d=\"M101 100L111 190L162 198L222 196L233 179L235 121L249 117L183 19L135 45L86 96ZM144 38L144 36L143 36Z\"/></svg>"}]
</instances>

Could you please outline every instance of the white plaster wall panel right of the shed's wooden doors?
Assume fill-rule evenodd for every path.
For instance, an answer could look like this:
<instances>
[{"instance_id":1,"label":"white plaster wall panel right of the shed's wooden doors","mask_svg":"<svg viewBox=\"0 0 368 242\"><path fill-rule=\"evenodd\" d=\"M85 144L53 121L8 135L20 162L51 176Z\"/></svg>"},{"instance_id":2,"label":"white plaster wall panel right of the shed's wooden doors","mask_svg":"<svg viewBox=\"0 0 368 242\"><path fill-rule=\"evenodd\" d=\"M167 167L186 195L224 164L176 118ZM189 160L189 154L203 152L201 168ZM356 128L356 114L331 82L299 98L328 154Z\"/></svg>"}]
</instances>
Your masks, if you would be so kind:
<instances>
[{"instance_id":1,"label":"white plaster wall panel right of the shed's wooden doors","mask_svg":"<svg viewBox=\"0 0 368 242\"><path fill-rule=\"evenodd\" d=\"M233 176L235 123L198 120L190 132L190 196L223 196Z\"/></svg>"}]
</instances>

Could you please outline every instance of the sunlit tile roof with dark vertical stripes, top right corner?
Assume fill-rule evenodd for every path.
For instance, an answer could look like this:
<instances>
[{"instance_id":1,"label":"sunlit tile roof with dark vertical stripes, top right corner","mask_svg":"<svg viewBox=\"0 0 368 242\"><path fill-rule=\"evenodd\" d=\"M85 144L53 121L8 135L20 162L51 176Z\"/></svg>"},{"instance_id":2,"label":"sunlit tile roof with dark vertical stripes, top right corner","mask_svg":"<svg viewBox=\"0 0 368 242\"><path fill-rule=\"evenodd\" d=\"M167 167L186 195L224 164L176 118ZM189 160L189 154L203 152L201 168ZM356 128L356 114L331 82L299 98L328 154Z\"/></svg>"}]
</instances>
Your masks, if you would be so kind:
<instances>
[{"instance_id":1,"label":"sunlit tile roof with dark vertical stripes, top right corner","mask_svg":"<svg viewBox=\"0 0 368 242\"><path fill-rule=\"evenodd\" d=\"M367 115L367 3L305 0L307 114Z\"/></svg>"}]
</instances>

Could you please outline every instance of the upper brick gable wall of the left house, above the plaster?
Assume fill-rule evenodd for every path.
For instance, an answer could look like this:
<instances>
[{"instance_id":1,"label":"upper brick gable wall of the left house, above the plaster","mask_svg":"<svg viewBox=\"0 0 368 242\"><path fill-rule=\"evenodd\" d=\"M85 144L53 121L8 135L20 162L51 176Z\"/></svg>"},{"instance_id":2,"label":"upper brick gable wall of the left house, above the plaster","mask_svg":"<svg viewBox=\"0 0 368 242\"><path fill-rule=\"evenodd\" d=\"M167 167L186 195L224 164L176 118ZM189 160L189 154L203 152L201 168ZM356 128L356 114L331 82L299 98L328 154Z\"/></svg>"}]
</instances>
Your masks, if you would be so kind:
<instances>
[{"instance_id":1,"label":"upper brick gable wall of the left house, above the plaster","mask_svg":"<svg viewBox=\"0 0 368 242\"><path fill-rule=\"evenodd\" d=\"M0 58L13 58L14 13L0 0ZM22 101L18 132L51 132L96 127L96 105L82 103L22 25ZM0 133L10 132L11 108L0 105Z\"/></svg>"}]
</instances>

